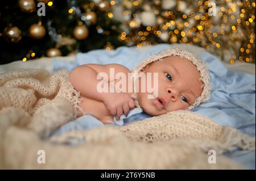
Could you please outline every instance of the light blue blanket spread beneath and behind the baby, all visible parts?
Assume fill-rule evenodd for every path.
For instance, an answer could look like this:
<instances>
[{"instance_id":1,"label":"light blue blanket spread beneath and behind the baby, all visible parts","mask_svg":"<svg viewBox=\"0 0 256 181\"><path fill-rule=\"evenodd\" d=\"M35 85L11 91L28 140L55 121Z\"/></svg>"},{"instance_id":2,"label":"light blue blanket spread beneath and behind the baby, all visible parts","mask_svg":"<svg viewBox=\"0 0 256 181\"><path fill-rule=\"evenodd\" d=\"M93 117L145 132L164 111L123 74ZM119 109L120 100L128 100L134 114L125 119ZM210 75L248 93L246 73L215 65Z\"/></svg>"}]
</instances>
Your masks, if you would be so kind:
<instances>
[{"instance_id":1,"label":"light blue blanket spread beneath and behind the baby, all visible parts","mask_svg":"<svg viewBox=\"0 0 256 181\"><path fill-rule=\"evenodd\" d=\"M55 60L53 70L66 68L69 71L82 64L122 64L133 69L144 58L158 53L160 50L172 47L169 44L159 44L141 52L135 47L119 47L116 50L92 50L88 53L79 53L72 63L63 63ZM212 85L211 96L207 103L191 110L216 121L220 125L229 125L243 133L255 136L255 76L239 71L229 71L221 61L202 51L199 56L207 62L210 70ZM127 117L122 117L122 124L131 121L143 120L150 117L143 110L133 110ZM74 129L89 129L103 124L93 116L82 116L57 129L52 136L56 136ZM117 125L117 124L114 124ZM243 164L249 169L255 169L255 151L236 150L225 153L226 156Z\"/></svg>"}]
</instances>

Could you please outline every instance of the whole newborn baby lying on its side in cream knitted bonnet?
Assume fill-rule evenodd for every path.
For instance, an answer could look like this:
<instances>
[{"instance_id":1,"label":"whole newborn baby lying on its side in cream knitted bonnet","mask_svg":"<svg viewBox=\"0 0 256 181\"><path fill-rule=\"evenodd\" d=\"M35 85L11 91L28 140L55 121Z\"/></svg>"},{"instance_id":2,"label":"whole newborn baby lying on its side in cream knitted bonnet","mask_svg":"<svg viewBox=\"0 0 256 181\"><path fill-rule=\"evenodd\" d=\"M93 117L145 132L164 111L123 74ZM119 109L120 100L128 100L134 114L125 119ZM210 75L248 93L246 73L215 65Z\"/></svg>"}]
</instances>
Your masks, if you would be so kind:
<instances>
[{"instance_id":1,"label":"whole newborn baby lying on its side in cream knitted bonnet","mask_svg":"<svg viewBox=\"0 0 256 181\"><path fill-rule=\"evenodd\" d=\"M112 70L114 76L111 75ZM102 81L99 75L102 73L108 77L108 81L105 82L108 90L116 88L118 84L118 91L99 91ZM117 78L115 75L120 73L126 76ZM142 61L132 73L119 64L85 64L73 69L69 74L69 80L81 96L80 113L77 117L86 112L108 124L113 123L113 116L119 120L122 114L127 116L134 107L141 107L149 115L158 116L170 111L191 110L209 99L207 66L187 50L163 50ZM143 73L144 79L143 76L138 76ZM123 78L125 85L120 85L119 81ZM146 85L143 85L144 80ZM129 82L133 82L132 88L129 87ZM147 87L148 84L157 86L156 95L148 90L142 91L142 86ZM150 98L149 95L154 96Z\"/></svg>"}]
</instances>

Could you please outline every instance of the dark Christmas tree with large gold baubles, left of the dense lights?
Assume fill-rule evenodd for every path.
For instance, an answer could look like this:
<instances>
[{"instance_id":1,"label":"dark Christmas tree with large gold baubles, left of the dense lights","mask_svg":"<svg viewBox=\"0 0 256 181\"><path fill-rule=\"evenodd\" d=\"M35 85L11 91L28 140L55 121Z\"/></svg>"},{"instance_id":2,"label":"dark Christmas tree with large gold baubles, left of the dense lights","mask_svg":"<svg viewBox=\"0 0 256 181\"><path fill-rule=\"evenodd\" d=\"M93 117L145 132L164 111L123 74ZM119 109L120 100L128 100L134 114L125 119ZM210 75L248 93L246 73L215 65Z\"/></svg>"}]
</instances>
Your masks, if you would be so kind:
<instances>
[{"instance_id":1,"label":"dark Christmas tree with large gold baubles, left of the dense lights","mask_svg":"<svg viewBox=\"0 0 256 181\"><path fill-rule=\"evenodd\" d=\"M109 1L1 1L1 64L124 45L110 6Z\"/></svg>"}]
</instances>

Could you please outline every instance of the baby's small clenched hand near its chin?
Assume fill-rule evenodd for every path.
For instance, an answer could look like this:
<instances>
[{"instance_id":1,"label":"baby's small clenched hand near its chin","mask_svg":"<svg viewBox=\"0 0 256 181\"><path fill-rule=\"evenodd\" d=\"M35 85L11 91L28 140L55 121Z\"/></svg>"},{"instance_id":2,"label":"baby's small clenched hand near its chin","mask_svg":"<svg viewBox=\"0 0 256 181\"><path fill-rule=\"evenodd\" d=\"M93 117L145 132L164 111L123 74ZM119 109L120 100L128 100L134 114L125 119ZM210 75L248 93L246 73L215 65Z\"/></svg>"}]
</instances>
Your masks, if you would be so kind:
<instances>
[{"instance_id":1,"label":"baby's small clenched hand near its chin","mask_svg":"<svg viewBox=\"0 0 256 181\"><path fill-rule=\"evenodd\" d=\"M134 100L123 92L107 93L104 96L103 103L113 116L116 115L117 120L123 113L127 116L129 110L135 107Z\"/></svg>"}]
</instances>

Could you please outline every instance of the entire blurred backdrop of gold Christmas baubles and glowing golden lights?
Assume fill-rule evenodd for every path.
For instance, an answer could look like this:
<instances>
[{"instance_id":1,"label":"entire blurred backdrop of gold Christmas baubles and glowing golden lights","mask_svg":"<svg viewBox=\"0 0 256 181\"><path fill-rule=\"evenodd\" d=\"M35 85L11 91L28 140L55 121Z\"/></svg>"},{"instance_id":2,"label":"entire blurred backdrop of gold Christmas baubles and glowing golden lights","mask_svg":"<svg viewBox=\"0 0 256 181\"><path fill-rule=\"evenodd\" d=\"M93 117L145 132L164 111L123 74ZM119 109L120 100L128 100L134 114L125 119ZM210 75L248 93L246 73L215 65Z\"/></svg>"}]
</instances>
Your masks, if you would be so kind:
<instances>
[{"instance_id":1,"label":"entire blurred backdrop of gold Christmas baubles and glowing golden lights","mask_svg":"<svg viewBox=\"0 0 256 181\"><path fill-rule=\"evenodd\" d=\"M195 44L230 64L255 63L255 1L0 2L1 64L158 43Z\"/></svg>"}]
</instances>

